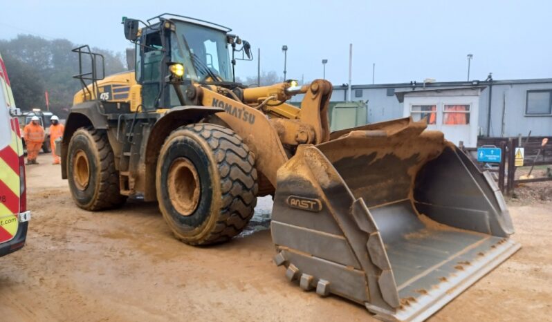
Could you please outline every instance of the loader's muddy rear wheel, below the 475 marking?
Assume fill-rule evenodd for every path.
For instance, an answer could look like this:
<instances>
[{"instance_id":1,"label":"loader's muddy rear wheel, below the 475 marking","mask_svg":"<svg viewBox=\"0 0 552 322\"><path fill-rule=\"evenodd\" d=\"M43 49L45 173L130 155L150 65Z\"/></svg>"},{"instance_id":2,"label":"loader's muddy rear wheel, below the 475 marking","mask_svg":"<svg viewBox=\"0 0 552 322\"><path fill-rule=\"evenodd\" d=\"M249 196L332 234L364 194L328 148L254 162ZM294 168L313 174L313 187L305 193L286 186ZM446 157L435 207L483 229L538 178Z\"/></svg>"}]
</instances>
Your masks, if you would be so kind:
<instances>
[{"instance_id":1,"label":"loader's muddy rear wheel, below the 475 marking","mask_svg":"<svg viewBox=\"0 0 552 322\"><path fill-rule=\"evenodd\" d=\"M82 209L111 209L127 200L119 193L119 172L105 131L84 127L75 131L66 164L71 195Z\"/></svg>"}]
</instances>

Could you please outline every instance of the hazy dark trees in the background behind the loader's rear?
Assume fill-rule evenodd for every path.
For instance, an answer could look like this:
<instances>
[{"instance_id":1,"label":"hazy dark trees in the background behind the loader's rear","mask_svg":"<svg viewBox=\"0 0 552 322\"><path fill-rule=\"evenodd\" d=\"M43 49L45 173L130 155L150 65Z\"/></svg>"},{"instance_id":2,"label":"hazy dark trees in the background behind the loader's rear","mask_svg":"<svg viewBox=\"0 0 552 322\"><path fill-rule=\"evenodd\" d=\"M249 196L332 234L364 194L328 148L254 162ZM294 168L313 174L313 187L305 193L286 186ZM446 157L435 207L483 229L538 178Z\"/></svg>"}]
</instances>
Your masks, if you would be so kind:
<instances>
[{"instance_id":1,"label":"hazy dark trees in the background behind the loader's rear","mask_svg":"<svg viewBox=\"0 0 552 322\"><path fill-rule=\"evenodd\" d=\"M81 89L80 82L73 78L79 64L78 55L71 49L77 46L67 39L48 40L33 35L0 39L0 53L17 107L22 111L46 110L44 93L48 92L50 111L60 117L68 115L73 95ZM104 55L106 75L126 69L122 53L102 48L92 48L92 51Z\"/></svg>"}]
</instances>

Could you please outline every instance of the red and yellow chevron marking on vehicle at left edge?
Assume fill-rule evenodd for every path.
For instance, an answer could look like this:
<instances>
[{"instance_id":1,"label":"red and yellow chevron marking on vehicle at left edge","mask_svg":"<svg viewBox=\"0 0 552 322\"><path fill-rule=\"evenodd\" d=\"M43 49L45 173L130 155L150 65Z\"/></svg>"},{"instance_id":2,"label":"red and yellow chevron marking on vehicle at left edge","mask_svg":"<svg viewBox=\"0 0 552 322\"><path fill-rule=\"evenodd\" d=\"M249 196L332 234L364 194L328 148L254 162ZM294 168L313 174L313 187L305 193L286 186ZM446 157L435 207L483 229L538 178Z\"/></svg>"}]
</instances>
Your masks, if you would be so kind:
<instances>
[{"instance_id":1,"label":"red and yellow chevron marking on vehicle at left edge","mask_svg":"<svg viewBox=\"0 0 552 322\"><path fill-rule=\"evenodd\" d=\"M19 164L23 158L23 146L17 118L10 119L10 126L12 140L0 149L0 243L12 239L19 228Z\"/></svg>"}]
</instances>

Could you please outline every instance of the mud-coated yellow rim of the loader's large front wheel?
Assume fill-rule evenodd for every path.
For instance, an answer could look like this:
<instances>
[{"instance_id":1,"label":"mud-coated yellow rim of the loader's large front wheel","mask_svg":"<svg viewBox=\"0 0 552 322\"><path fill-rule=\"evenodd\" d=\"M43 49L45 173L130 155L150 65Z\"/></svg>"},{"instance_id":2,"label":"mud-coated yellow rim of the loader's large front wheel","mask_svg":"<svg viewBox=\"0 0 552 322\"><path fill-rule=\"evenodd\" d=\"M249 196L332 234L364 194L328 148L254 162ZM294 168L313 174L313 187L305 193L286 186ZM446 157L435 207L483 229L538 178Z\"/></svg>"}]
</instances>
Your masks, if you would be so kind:
<instances>
[{"instance_id":1,"label":"mud-coated yellow rim of the loader's large front wheel","mask_svg":"<svg viewBox=\"0 0 552 322\"><path fill-rule=\"evenodd\" d=\"M167 176L169 198L178 214L190 216L199 204L201 184L194 164L187 158L177 158Z\"/></svg>"}]
</instances>

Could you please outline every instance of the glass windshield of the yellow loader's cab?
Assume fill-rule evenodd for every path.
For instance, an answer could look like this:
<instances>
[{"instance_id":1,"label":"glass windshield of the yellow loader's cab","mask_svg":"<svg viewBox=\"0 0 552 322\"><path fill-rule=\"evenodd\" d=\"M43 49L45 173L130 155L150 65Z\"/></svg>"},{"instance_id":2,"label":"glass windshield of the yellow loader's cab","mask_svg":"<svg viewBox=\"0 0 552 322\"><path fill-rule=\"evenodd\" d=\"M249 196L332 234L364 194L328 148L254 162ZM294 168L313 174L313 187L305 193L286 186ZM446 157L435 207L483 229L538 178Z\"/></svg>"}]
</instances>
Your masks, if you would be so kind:
<instances>
[{"instance_id":1,"label":"glass windshield of the yellow loader's cab","mask_svg":"<svg viewBox=\"0 0 552 322\"><path fill-rule=\"evenodd\" d=\"M185 78L198 82L232 81L226 32L185 21L175 21L175 25L171 59L185 66Z\"/></svg>"}]
</instances>

